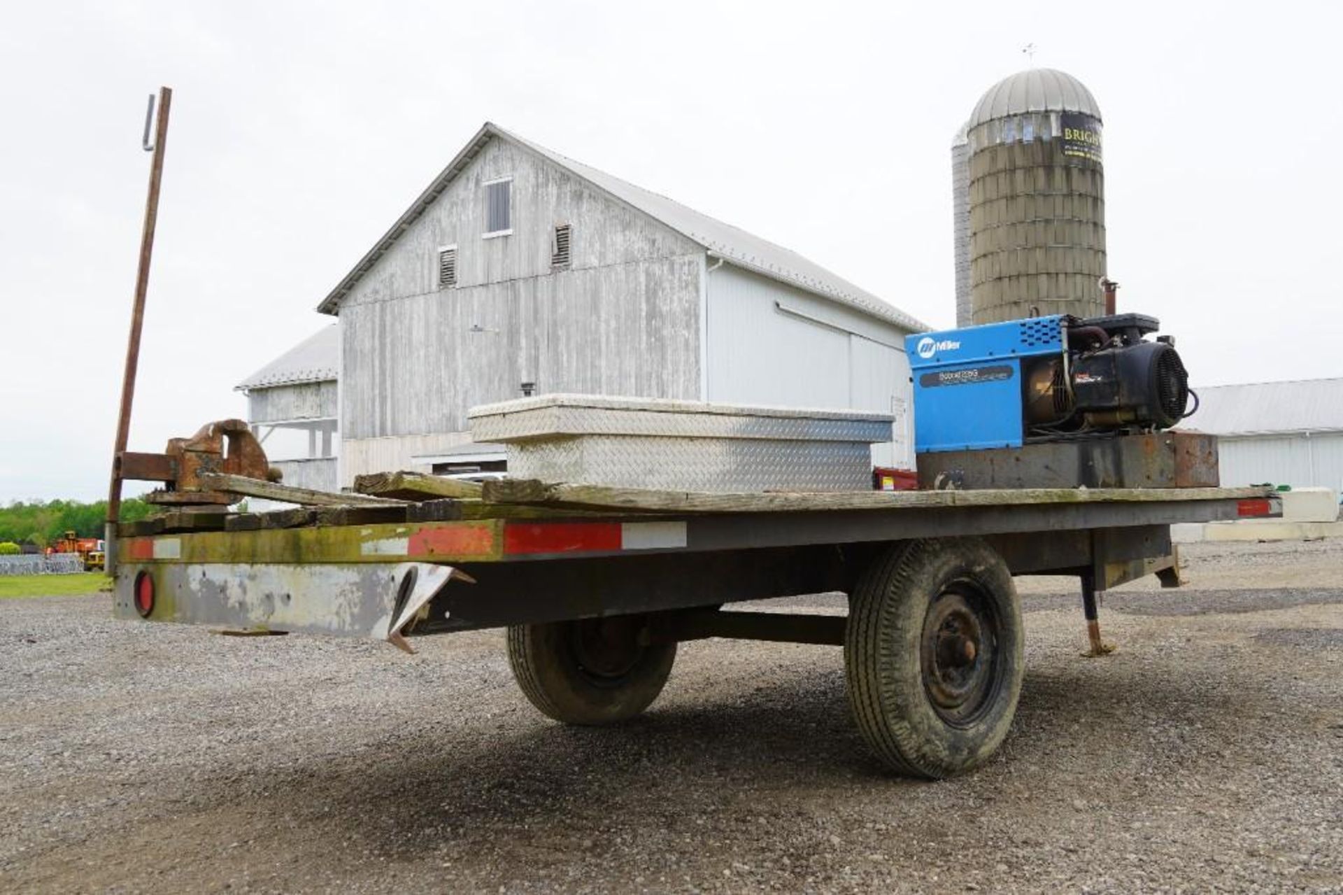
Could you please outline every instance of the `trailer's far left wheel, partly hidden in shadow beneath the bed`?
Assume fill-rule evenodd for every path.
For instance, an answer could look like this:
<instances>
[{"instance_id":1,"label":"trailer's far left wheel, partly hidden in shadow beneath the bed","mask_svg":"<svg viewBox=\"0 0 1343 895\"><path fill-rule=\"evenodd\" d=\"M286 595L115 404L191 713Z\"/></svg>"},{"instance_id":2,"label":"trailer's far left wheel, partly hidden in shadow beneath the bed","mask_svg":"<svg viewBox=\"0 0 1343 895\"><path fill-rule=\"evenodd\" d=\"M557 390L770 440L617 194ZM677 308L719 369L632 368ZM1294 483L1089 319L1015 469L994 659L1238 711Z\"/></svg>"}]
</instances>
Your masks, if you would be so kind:
<instances>
[{"instance_id":1,"label":"trailer's far left wheel, partly hidden in shadow beneath the bed","mask_svg":"<svg viewBox=\"0 0 1343 895\"><path fill-rule=\"evenodd\" d=\"M658 697L676 642L641 644L641 615L612 615L508 629L508 660L522 693L565 724L612 724Z\"/></svg>"}]
</instances>

